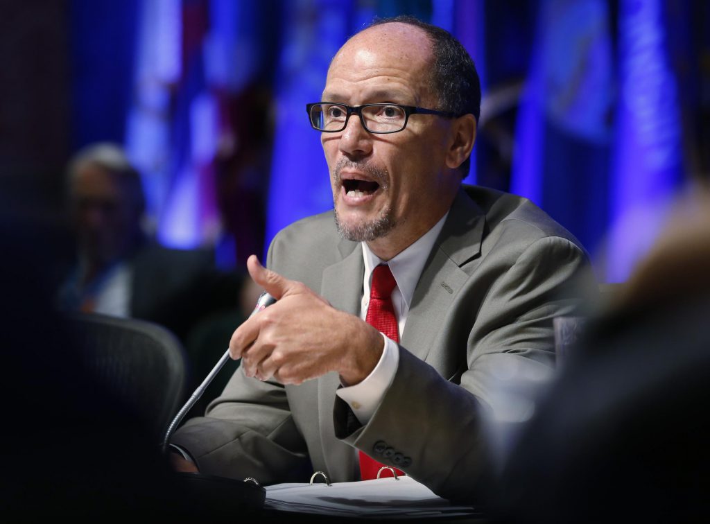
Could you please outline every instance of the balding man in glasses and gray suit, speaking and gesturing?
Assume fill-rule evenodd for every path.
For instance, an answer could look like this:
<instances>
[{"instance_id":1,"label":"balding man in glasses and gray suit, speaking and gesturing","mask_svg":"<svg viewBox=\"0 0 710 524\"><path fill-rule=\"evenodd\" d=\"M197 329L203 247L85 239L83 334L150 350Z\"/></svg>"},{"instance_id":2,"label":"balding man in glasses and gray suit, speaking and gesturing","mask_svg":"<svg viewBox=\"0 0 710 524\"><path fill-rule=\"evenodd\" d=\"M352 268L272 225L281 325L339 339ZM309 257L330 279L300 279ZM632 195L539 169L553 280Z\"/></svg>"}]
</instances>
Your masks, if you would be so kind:
<instances>
[{"instance_id":1,"label":"balding man in glasses and gray suit, speaking and gesturing","mask_svg":"<svg viewBox=\"0 0 710 524\"><path fill-rule=\"evenodd\" d=\"M364 452L441 496L476 493L491 377L551 367L552 319L591 278L579 243L528 200L461 186L480 99L460 43L412 18L339 50L324 102L307 107L334 214L281 231L269 269L249 259L278 302L234 332L242 365L175 435L193 462L175 454L178 469L351 481ZM364 320L381 264L396 280L395 337Z\"/></svg>"}]
</instances>

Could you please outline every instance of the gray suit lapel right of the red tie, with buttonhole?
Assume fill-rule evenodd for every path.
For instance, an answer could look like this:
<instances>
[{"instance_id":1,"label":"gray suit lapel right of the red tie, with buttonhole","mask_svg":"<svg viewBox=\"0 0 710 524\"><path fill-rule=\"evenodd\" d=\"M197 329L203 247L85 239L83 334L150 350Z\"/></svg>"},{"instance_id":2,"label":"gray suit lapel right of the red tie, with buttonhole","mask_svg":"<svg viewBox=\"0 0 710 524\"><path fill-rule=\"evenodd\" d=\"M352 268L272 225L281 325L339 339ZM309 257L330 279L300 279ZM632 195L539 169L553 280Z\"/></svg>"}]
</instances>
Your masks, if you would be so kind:
<instances>
[{"instance_id":1,"label":"gray suit lapel right of the red tie, with buttonhole","mask_svg":"<svg viewBox=\"0 0 710 524\"><path fill-rule=\"evenodd\" d=\"M464 266L481 254L485 224L478 204L459 190L417 283L402 334L402 346L424 361L469 278Z\"/></svg>"}]
</instances>

